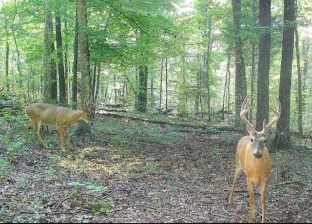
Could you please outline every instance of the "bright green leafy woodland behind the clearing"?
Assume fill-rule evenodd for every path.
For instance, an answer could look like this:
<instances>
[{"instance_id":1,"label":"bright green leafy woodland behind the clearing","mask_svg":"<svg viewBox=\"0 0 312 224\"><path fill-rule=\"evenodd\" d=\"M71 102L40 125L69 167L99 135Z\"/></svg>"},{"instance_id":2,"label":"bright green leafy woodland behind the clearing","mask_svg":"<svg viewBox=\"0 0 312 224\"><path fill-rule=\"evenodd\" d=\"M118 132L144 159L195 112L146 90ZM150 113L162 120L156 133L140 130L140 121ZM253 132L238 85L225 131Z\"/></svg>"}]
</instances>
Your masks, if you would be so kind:
<instances>
[{"instance_id":1,"label":"bright green leafy woodland behind the clearing","mask_svg":"<svg viewBox=\"0 0 312 224\"><path fill-rule=\"evenodd\" d=\"M23 107L71 105L92 93L95 102L121 103L130 110L175 111L235 125L241 125L237 110L251 94L258 111L250 117L261 127L269 99L278 96L279 86L291 86L289 128L308 134L311 4L295 2L295 18L285 23L283 1L273 0L271 11L262 12L259 8L268 6L259 7L256 0L232 3L237 7L224 0L6 1L0 14L2 94L19 97ZM293 62L287 62L291 85L280 84L288 26L296 27ZM86 55L78 51L80 32Z\"/></svg>"}]
</instances>

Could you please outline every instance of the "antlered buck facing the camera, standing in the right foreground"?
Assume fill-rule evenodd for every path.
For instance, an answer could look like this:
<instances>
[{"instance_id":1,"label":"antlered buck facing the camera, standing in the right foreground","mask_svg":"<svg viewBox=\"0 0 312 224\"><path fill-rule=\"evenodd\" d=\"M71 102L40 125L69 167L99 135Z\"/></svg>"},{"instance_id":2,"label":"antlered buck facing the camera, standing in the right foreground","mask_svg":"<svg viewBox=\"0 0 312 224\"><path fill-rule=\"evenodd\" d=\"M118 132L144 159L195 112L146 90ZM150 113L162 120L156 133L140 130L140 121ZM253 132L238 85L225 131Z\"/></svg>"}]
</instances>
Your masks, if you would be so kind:
<instances>
[{"instance_id":1,"label":"antlered buck facing the camera, standing in the right foreground","mask_svg":"<svg viewBox=\"0 0 312 224\"><path fill-rule=\"evenodd\" d=\"M277 98L276 98L277 99ZM271 108L275 114L273 120L266 124L263 121L262 131L255 130L255 124L251 124L245 117L246 113L251 110L251 107L247 108L250 101L250 95L247 96L242 103L240 117L243 122L246 123L246 129L249 132L248 136L241 138L237 144L236 152L236 170L234 174L234 181L232 186L232 192L230 195L229 204L233 203L234 185L240 172L243 170L247 176L247 186L249 190L249 203L250 203L250 217L249 222L253 223L253 215L256 215L256 209L254 206L254 184L260 185L261 188L261 205L262 205L262 223L266 222L265 219L265 191L268 183L268 178L271 173L271 156L268 148L266 147L266 138L274 123L276 123L280 117L281 103L278 101L278 110L274 104L274 108Z\"/></svg>"}]
</instances>

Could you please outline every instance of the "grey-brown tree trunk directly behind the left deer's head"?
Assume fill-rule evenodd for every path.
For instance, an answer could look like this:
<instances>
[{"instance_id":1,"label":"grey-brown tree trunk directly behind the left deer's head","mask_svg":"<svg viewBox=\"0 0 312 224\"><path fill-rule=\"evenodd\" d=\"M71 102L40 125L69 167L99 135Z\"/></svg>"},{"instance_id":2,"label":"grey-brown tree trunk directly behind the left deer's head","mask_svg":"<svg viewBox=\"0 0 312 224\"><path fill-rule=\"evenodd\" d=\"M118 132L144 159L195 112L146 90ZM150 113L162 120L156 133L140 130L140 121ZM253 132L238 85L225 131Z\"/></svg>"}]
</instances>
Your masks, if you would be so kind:
<instances>
[{"instance_id":1,"label":"grey-brown tree trunk directly behind the left deer's head","mask_svg":"<svg viewBox=\"0 0 312 224\"><path fill-rule=\"evenodd\" d=\"M87 4L86 0L78 0L78 32L79 32L79 54L80 54L80 68L81 68L81 102L92 94L91 77L90 77L90 52L87 37ZM86 122L79 123L80 133L90 133L91 127Z\"/></svg>"}]
</instances>

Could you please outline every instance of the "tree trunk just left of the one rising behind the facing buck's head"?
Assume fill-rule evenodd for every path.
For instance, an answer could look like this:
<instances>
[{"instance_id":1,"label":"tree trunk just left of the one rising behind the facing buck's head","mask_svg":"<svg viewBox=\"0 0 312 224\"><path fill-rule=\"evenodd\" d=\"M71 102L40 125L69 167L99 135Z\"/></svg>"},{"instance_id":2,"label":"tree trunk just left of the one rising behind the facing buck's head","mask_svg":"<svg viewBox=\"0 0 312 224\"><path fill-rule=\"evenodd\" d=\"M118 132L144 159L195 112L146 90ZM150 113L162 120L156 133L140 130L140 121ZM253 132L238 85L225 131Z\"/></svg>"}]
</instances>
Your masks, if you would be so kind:
<instances>
[{"instance_id":1,"label":"tree trunk just left of the one rising behind the facing buck's head","mask_svg":"<svg viewBox=\"0 0 312 224\"><path fill-rule=\"evenodd\" d=\"M240 107L247 94L245 63L240 32L240 0L232 0L235 27L235 126L241 126Z\"/></svg>"}]
</instances>

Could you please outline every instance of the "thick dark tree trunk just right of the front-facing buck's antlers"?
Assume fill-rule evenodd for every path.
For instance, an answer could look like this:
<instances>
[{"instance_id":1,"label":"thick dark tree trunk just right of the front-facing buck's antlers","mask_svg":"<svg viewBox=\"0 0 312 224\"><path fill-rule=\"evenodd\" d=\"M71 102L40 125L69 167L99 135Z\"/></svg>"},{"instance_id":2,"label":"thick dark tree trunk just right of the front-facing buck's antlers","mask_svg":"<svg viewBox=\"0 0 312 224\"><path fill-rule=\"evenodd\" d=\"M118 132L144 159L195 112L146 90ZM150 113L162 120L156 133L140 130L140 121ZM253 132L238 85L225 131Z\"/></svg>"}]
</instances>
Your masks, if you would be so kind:
<instances>
[{"instance_id":1,"label":"thick dark tree trunk just right of the front-facing buck's antlers","mask_svg":"<svg viewBox=\"0 0 312 224\"><path fill-rule=\"evenodd\" d=\"M292 55L294 39L294 0L284 0L284 27L282 62L279 81L279 100L282 112L277 122L277 130L274 139L275 147L287 149L291 147L290 134L290 104L292 86Z\"/></svg>"}]
</instances>

